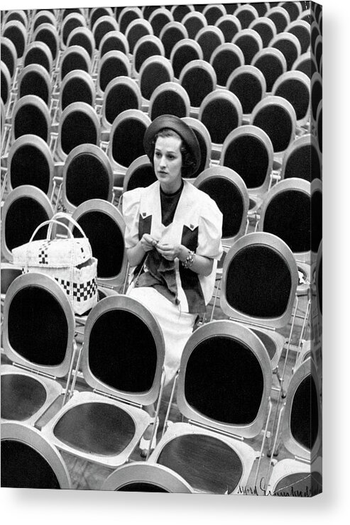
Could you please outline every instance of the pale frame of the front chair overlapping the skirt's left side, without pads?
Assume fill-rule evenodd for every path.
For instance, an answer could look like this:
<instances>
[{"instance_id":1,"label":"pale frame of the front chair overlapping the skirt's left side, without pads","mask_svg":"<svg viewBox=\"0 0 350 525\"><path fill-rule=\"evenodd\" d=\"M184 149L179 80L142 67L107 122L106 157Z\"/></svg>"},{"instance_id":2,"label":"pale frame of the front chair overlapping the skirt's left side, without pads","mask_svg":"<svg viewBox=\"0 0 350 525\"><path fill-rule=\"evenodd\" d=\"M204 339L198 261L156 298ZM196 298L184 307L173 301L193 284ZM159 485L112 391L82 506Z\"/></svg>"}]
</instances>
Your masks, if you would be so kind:
<instances>
[{"instance_id":1,"label":"pale frame of the front chair overlapping the skirt's left side, without pads","mask_svg":"<svg viewBox=\"0 0 350 525\"><path fill-rule=\"evenodd\" d=\"M155 339L158 363L155 370L153 385L148 392L142 392L139 394L137 392L128 393L111 388L108 385L105 385L103 382L100 382L97 377L94 377L92 371L89 368L89 336L94 323L99 319L100 316L115 309L128 311L133 315L138 316L148 326L151 333L153 334L153 338ZM93 463L98 463L110 468L117 468L120 465L126 463L129 456L143 436L144 431L151 422L151 416L149 416L147 412L142 409L142 406L152 404L158 398L159 409L160 397L163 392L163 383L165 377L163 369L164 353L163 333L160 330L158 321L151 314L151 312L148 311L145 306L143 306L143 304L136 301L136 299L127 297L126 295L112 295L110 297L105 297L102 301L98 302L96 306L94 306L87 317L84 330L84 345L82 350L80 350L80 355L78 357L78 364L80 364L80 357L82 357L82 373L87 384L92 387L92 389L94 389L94 392L75 393L65 404L65 406L62 407L60 412L58 412L58 414L56 414L53 419L51 419L48 424L43 427L43 436L46 436L57 448L60 448L61 450L66 451L72 455L79 456L80 458L84 458L85 460L92 461ZM74 381L75 380L73 379L72 385L74 384ZM131 416L131 419L133 419L136 428L133 438L128 443L126 448L124 448L124 451L117 455L101 456L89 453L88 451L78 451L77 449L72 448L70 445L65 444L55 437L53 430L60 417L71 408L85 403L111 404L114 407L123 409L124 412L128 414L128 416Z\"/></svg>"}]
</instances>

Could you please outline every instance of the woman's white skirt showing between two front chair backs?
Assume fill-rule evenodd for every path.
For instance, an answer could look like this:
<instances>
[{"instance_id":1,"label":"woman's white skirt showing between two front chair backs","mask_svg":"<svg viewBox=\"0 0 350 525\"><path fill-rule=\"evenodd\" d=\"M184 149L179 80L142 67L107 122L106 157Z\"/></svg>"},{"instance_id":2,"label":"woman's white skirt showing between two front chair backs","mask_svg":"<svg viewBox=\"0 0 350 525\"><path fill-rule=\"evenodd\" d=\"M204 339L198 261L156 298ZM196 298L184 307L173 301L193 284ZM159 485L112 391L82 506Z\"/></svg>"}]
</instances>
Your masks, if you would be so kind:
<instances>
[{"instance_id":1,"label":"woman's white skirt showing between two front chair backs","mask_svg":"<svg viewBox=\"0 0 350 525\"><path fill-rule=\"evenodd\" d=\"M168 385L180 367L182 351L190 338L197 314L180 311L179 306L152 287L131 287L127 295L146 306L162 329L165 342L165 385Z\"/></svg>"}]
</instances>

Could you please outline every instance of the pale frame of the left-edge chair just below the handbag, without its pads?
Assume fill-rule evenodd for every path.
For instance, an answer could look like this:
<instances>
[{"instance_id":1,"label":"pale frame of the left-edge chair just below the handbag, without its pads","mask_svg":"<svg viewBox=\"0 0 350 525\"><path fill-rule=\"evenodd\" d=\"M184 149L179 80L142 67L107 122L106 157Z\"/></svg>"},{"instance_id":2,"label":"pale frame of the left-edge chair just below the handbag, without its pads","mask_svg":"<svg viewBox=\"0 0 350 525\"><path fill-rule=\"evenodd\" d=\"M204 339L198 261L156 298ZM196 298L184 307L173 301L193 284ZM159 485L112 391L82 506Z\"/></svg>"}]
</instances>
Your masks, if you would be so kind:
<instances>
[{"instance_id":1,"label":"pale frame of the left-edge chair just below the handbag, without its pads","mask_svg":"<svg viewBox=\"0 0 350 525\"><path fill-rule=\"evenodd\" d=\"M53 294L65 314L65 319L67 321L67 348L65 350L65 358L59 365L55 366L45 366L37 365L32 361L23 358L20 354L16 352L16 349L11 346L9 339L9 309L13 297L16 296L18 292L26 287L37 286L41 289L44 289L46 292ZM33 426L36 421L40 419L41 416L48 410L48 408L55 402L58 397L64 392L63 402L65 404L69 388L70 388L70 378L72 375L73 360L76 354L76 345L75 345L75 320L74 314L72 311L72 306L70 304L70 299L67 297L65 291L60 287L60 284L56 282L53 277L48 275L43 275L41 273L26 273L17 277L9 286L9 289L6 292L5 302L4 302L4 352L13 363L12 365L4 365L1 370L1 376L4 375L19 375L25 377L31 377L35 379L45 388L46 399L44 404L38 409L34 414L32 414L28 419L26 419L26 424ZM65 389L60 385L58 381L55 380L56 377L65 377L67 375L67 382ZM9 421L1 418L2 421Z\"/></svg>"}]
</instances>

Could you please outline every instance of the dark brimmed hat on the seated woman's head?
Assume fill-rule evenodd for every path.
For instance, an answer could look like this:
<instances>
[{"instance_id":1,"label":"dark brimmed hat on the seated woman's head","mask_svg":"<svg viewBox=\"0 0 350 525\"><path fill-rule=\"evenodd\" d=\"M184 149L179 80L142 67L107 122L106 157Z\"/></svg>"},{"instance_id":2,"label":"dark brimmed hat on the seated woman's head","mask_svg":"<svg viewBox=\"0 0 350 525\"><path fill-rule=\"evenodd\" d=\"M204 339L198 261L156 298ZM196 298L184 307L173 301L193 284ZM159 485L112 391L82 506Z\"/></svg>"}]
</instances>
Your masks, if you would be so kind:
<instances>
[{"instance_id":1,"label":"dark brimmed hat on the seated woman's head","mask_svg":"<svg viewBox=\"0 0 350 525\"><path fill-rule=\"evenodd\" d=\"M195 165L191 166L187 170L187 176L193 175L199 168L200 164L200 148L195 132L192 131L190 126L187 126L185 122L181 120L178 116L175 115L160 115L154 119L154 121L146 129L145 136L143 137L143 147L145 148L146 155L153 164L153 137L163 128L172 129L180 135L182 140L186 143L187 148L192 153L193 158L195 159Z\"/></svg>"}]
</instances>

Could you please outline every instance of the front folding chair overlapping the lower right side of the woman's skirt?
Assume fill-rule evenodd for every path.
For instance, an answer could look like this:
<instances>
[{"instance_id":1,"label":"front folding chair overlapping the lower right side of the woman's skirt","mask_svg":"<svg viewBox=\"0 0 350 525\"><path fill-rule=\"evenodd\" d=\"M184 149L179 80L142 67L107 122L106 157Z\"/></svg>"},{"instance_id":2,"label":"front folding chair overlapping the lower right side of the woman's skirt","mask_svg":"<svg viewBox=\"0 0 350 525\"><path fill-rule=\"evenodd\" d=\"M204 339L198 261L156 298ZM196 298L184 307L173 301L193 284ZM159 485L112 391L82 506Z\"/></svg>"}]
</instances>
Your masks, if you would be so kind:
<instances>
[{"instance_id":1,"label":"front folding chair overlapping the lower right side of the woman's skirt","mask_svg":"<svg viewBox=\"0 0 350 525\"><path fill-rule=\"evenodd\" d=\"M238 494L253 487L248 480L256 458L258 476L271 383L268 354L251 330L232 321L201 326L187 341L177 380L177 406L187 422L170 424L168 409L166 431L148 463L175 470L194 492ZM257 452L245 441L264 426Z\"/></svg>"}]
</instances>

